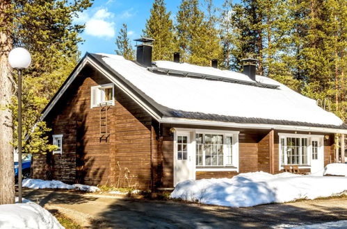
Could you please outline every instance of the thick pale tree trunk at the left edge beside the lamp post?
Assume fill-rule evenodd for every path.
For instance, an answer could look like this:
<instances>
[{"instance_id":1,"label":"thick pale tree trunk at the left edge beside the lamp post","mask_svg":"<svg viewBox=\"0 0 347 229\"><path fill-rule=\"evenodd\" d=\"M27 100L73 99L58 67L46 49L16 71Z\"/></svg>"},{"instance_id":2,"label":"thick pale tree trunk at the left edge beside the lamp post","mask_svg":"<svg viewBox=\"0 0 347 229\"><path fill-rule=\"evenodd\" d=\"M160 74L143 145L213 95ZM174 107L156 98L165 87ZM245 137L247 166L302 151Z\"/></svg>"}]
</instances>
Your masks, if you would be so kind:
<instances>
[{"instance_id":1,"label":"thick pale tree trunk at the left edge beside the lamp post","mask_svg":"<svg viewBox=\"0 0 347 229\"><path fill-rule=\"evenodd\" d=\"M13 166L12 113L6 107L11 103L13 85L8 53L12 49L10 15L5 11L10 1L0 1L0 204L15 202L15 174Z\"/></svg>"}]
</instances>

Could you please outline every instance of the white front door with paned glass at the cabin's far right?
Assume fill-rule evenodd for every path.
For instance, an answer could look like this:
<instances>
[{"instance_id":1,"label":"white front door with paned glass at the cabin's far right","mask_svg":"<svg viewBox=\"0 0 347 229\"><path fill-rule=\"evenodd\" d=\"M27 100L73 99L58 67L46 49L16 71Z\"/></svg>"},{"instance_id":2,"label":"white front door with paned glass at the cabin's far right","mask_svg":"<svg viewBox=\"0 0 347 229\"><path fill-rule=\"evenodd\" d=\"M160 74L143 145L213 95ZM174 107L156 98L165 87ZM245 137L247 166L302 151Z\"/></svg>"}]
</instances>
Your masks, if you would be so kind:
<instances>
[{"instance_id":1,"label":"white front door with paned glass at the cabin's far right","mask_svg":"<svg viewBox=\"0 0 347 229\"><path fill-rule=\"evenodd\" d=\"M324 160L323 160L323 143L322 139L312 138L311 139L311 147L312 147L312 155L311 155L311 173L316 173L321 171L324 168Z\"/></svg>"}]
</instances>

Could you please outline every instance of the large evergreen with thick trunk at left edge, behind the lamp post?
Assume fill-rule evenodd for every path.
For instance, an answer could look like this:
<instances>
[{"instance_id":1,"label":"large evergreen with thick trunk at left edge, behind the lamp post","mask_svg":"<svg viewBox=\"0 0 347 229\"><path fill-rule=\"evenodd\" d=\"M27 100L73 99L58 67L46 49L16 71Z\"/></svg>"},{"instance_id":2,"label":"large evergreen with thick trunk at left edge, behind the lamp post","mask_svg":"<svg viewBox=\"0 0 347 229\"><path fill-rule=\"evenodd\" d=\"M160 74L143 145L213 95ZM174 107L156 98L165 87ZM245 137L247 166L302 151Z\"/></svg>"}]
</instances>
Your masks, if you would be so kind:
<instances>
[{"instance_id":1,"label":"large evergreen with thick trunk at left edge, behind the lamp post","mask_svg":"<svg viewBox=\"0 0 347 229\"><path fill-rule=\"evenodd\" d=\"M4 103L1 99L0 117L4 117L1 121L13 121L11 125L6 124L6 130L0 128L0 142L6 145L1 146L0 173L8 175L5 175L5 180L0 178L0 204L14 201L14 192L10 189L14 185L13 160L10 160L13 158L13 151L12 146L8 145L17 141L17 113L14 112L17 110L17 99L12 91L16 88L17 73L8 71L8 52L13 46L23 46L30 51L33 59L31 67L24 72L22 98L23 137L31 133L31 130L34 131L33 137L24 144L24 151L27 149L29 153L35 153L34 148L38 144L47 143L41 140L42 135L49 130L44 123L37 122L40 112L55 93L52 89L60 87L68 76L66 72L72 71L79 56L77 44L81 42L81 38L78 35L83 30L83 25L73 24L72 19L77 12L89 6L89 0L21 0L0 3L0 81L1 88L7 90L5 95L0 90L0 97L7 98ZM64 71L60 71L61 69ZM35 123L38 128L32 129ZM53 148L48 146L44 150L46 149L49 151ZM6 158L6 161L2 158ZM8 168L12 169L10 173L7 172Z\"/></svg>"}]
</instances>

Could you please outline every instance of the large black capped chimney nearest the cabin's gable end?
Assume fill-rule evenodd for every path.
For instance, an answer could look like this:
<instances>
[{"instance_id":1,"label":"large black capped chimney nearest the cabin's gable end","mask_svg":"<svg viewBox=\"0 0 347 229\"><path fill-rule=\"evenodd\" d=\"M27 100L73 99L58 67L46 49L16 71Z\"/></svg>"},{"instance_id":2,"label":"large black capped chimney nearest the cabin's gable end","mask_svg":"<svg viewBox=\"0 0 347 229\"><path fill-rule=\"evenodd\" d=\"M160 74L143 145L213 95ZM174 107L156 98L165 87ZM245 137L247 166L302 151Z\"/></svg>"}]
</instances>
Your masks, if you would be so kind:
<instances>
[{"instance_id":1,"label":"large black capped chimney nearest the cabin's gable end","mask_svg":"<svg viewBox=\"0 0 347 229\"><path fill-rule=\"evenodd\" d=\"M152 66L152 42L154 39L141 37L136 40L136 42L142 42L141 44L136 44L136 61L143 65L144 67Z\"/></svg>"}]
</instances>

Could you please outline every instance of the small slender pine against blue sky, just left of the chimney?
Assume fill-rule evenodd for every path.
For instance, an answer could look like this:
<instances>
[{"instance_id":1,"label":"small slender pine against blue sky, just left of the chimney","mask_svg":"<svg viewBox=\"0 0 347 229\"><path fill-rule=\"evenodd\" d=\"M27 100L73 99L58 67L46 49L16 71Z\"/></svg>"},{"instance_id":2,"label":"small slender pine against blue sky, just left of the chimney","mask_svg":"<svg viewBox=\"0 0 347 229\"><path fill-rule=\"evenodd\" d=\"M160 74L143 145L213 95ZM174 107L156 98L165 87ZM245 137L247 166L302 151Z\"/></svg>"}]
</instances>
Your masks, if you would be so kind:
<instances>
[{"instance_id":1,"label":"small slender pine against blue sky, just left of the chimney","mask_svg":"<svg viewBox=\"0 0 347 229\"><path fill-rule=\"evenodd\" d=\"M122 28L120 28L115 44L117 45L117 50L115 51L117 55L124 56L127 60L134 60L135 51L129 41L127 24L123 24Z\"/></svg>"}]
</instances>

